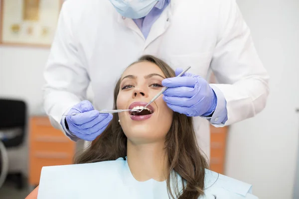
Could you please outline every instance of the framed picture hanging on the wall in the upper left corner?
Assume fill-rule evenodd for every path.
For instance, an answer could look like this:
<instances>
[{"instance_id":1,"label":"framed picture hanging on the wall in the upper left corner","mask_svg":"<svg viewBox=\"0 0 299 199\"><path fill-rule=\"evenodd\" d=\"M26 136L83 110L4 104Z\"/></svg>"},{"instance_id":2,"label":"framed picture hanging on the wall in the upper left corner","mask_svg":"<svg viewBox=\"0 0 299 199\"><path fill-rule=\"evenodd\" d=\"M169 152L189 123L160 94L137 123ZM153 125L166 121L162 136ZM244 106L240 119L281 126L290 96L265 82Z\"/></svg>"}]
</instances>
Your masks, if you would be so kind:
<instances>
[{"instance_id":1,"label":"framed picture hanging on the wall in the upper left corner","mask_svg":"<svg viewBox=\"0 0 299 199\"><path fill-rule=\"evenodd\" d=\"M0 44L49 47L63 0L0 0Z\"/></svg>"}]
</instances>

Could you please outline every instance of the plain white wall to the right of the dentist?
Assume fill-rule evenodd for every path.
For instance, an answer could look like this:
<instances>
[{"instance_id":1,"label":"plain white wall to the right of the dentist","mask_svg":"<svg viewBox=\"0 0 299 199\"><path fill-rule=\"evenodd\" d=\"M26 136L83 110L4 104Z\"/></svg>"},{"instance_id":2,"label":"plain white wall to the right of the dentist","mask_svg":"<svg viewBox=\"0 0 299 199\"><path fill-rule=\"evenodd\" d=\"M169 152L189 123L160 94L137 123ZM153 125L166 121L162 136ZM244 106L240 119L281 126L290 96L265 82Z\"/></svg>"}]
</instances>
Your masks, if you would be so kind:
<instances>
[{"instance_id":1,"label":"plain white wall to the right of the dentist","mask_svg":"<svg viewBox=\"0 0 299 199\"><path fill-rule=\"evenodd\" d=\"M291 199L299 140L299 1L238 0L270 73L270 96L255 118L231 126L226 175L260 199Z\"/></svg>"}]
</instances>

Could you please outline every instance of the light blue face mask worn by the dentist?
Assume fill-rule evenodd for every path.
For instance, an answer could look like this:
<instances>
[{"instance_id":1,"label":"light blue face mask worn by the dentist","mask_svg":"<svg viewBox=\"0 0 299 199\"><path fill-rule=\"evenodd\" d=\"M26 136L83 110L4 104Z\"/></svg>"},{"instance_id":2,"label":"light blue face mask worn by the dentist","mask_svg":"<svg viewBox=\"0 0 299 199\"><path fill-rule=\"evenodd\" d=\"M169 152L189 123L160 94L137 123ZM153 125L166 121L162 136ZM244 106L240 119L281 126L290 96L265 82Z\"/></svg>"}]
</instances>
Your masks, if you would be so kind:
<instances>
[{"instance_id":1,"label":"light blue face mask worn by the dentist","mask_svg":"<svg viewBox=\"0 0 299 199\"><path fill-rule=\"evenodd\" d=\"M146 16L159 0L110 0L116 10L127 18Z\"/></svg>"}]
</instances>

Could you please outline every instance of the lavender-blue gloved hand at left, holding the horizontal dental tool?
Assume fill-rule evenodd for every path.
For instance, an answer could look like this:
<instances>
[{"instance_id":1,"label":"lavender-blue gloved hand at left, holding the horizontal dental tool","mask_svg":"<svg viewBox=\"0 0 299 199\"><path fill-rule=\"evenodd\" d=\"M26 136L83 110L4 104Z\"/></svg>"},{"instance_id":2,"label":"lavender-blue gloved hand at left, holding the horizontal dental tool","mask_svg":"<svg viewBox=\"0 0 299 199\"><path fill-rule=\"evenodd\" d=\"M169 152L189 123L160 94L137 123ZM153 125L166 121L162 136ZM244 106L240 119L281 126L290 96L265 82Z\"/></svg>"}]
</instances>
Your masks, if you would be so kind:
<instances>
[{"instance_id":1,"label":"lavender-blue gloved hand at left, holding the horizontal dental tool","mask_svg":"<svg viewBox=\"0 0 299 199\"><path fill-rule=\"evenodd\" d=\"M92 141L96 139L108 126L113 115L110 113L100 114L95 110L90 101L81 101L74 105L67 114L65 120L68 129L77 137L83 140Z\"/></svg>"}]
</instances>

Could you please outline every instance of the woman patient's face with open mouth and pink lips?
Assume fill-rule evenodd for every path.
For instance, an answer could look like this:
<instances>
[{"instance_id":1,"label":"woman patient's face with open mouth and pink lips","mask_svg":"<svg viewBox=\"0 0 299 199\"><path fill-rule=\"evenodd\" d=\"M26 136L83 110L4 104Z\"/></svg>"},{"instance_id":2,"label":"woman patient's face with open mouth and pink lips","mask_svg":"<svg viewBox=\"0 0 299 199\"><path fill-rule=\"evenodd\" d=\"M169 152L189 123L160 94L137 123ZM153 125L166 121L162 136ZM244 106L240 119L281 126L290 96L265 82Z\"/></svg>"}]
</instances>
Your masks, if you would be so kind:
<instances>
[{"instance_id":1,"label":"woman patient's face with open mouth and pink lips","mask_svg":"<svg viewBox=\"0 0 299 199\"><path fill-rule=\"evenodd\" d=\"M161 69L150 62L140 62L126 69L117 97L118 109L142 109L163 88ZM134 115L135 114L135 115ZM162 95L141 113L119 113L120 124L133 143L164 141L172 123L173 111Z\"/></svg>"}]
</instances>

